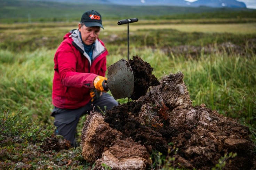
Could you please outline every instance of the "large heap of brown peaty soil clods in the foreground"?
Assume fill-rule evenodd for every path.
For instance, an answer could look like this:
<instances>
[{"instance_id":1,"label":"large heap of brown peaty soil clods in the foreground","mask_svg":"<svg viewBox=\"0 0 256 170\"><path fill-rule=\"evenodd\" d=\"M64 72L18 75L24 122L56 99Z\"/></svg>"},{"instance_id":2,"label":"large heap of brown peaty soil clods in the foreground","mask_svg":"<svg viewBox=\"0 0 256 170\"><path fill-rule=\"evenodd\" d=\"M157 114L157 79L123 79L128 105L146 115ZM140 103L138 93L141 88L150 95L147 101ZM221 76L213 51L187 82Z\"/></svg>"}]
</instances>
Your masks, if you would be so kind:
<instances>
[{"instance_id":1,"label":"large heap of brown peaty soil clods in the foreground","mask_svg":"<svg viewBox=\"0 0 256 170\"><path fill-rule=\"evenodd\" d=\"M175 159L172 167L202 170L215 167L225 153L233 152L237 156L226 160L223 169L253 170L256 150L249 135L247 126L205 104L193 106L183 74L176 73L106 115L89 115L81 147L84 159L95 162L94 169L152 168L150 155L159 151Z\"/></svg>"}]
</instances>

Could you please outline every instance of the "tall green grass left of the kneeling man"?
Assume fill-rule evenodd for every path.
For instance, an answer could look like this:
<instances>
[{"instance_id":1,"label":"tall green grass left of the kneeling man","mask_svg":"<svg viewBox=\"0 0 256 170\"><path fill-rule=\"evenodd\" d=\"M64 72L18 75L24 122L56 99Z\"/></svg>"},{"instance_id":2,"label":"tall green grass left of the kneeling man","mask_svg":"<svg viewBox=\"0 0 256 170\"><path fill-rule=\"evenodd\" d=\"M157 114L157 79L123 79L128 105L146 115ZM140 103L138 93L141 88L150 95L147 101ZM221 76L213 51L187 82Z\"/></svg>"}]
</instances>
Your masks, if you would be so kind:
<instances>
[{"instance_id":1,"label":"tall green grass left of the kneeling man","mask_svg":"<svg viewBox=\"0 0 256 170\"><path fill-rule=\"evenodd\" d=\"M24 115L49 122L54 51L40 49L14 54L0 50L1 113L23 108Z\"/></svg>"}]
</instances>

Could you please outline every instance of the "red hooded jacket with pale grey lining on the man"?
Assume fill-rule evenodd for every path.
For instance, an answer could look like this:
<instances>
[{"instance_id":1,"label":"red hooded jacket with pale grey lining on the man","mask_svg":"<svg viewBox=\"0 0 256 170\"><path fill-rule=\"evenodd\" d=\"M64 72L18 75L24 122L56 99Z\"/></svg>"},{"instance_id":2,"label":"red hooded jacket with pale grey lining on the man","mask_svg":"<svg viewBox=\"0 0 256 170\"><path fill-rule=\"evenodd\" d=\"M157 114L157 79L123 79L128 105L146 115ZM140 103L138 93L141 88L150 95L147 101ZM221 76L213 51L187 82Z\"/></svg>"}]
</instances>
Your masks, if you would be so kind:
<instances>
[{"instance_id":1,"label":"red hooded jacket with pale grey lining on the man","mask_svg":"<svg viewBox=\"0 0 256 170\"><path fill-rule=\"evenodd\" d=\"M54 56L53 105L74 109L86 105L91 97L97 75L105 76L106 55L104 43L97 39L93 50L93 61L86 54L79 31L67 33Z\"/></svg>"}]
</instances>

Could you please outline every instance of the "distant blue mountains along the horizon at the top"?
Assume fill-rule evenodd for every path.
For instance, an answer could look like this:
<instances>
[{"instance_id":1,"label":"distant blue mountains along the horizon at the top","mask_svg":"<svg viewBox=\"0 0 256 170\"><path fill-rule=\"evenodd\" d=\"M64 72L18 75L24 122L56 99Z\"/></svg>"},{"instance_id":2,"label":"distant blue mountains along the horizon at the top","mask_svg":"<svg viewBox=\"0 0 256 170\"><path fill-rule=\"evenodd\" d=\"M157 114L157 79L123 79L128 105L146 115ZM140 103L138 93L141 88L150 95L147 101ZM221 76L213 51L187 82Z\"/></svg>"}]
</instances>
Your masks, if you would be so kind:
<instances>
[{"instance_id":1,"label":"distant blue mountains along the horizon at the top","mask_svg":"<svg viewBox=\"0 0 256 170\"><path fill-rule=\"evenodd\" d=\"M42 1L42 0L33 0ZM237 0L197 0L188 2L185 0L44 0L52 2L69 2L69 3L91 3L106 5L129 5L129 6L178 6L178 7L200 7L206 6L211 8L246 8L244 2Z\"/></svg>"}]
</instances>

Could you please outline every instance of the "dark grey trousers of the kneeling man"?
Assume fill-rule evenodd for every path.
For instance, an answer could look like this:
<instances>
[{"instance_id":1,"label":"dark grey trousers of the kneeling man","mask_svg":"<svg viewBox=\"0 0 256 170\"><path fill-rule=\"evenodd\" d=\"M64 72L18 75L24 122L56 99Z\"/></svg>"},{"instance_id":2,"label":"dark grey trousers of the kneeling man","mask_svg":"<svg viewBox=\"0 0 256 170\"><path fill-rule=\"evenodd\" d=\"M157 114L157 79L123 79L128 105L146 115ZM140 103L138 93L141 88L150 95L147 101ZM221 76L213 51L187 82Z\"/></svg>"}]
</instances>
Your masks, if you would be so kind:
<instances>
[{"instance_id":1,"label":"dark grey trousers of the kneeling man","mask_svg":"<svg viewBox=\"0 0 256 170\"><path fill-rule=\"evenodd\" d=\"M71 141L71 146L77 147L75 140L76 128L79 118L82 115L90 114L90 111L99 112L111 110L118 103L108 93L103 95L94 102L89 102L87 105L77 109L63 109L54 106L51 116L55 118L54 125L56 126L55 135L61 135L66 140ZM99 109L99 108L100 109Z\"/></svg>"}]
</instances>

